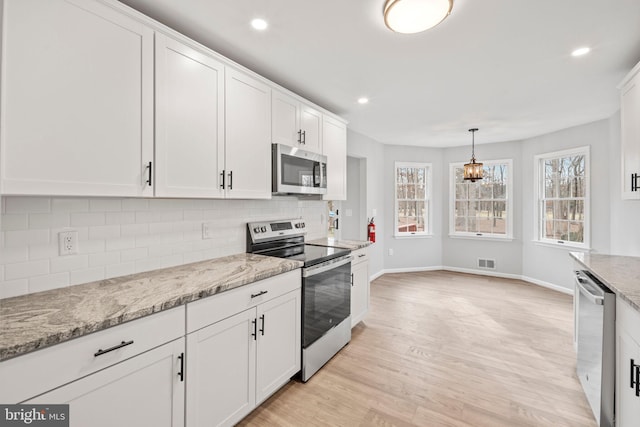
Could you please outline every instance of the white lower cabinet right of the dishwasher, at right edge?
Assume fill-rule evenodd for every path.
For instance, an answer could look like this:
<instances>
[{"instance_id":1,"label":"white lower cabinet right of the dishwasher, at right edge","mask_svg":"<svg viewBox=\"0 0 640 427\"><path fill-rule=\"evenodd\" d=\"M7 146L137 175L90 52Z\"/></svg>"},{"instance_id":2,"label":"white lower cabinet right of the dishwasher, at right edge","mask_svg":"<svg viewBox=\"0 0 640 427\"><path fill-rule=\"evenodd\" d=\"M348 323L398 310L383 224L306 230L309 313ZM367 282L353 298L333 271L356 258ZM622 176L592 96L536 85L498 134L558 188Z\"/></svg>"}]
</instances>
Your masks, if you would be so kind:
<instances>
[{"instance_id":1,"label":"white lower cabinet right of the dishwasher, at right edge","mask_svg":"<svg viewBox=\"0 0 640 427\"><path fill-rule=\"evenodd\" d=\"M616 426L640 420L640 312L616 299Z\"/></svg>"}]
</instances>

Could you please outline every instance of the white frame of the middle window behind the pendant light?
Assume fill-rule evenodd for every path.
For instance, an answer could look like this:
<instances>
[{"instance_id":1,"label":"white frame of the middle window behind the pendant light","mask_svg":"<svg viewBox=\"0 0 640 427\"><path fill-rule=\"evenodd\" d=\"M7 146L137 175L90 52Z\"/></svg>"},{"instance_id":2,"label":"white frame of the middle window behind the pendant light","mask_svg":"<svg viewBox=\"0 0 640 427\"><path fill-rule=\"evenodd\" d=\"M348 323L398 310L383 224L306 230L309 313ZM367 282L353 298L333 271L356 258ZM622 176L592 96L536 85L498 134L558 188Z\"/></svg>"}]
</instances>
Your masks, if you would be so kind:
<instances>
[{"instance_id":1,"label":"white frame of the middle window behind the pendant light","mask_svg":"<svg viewBox=\"0 0 640 427\"><path fill-rule=\"evenodd\" d=\"M464 162L449 163L449 237L477 240L513 240L513 159L482 160L483 166L507 165L507 189L506 189L506 230L505 234L480 233L468 231L456 231L456 169L462 169ZM482 182L478 181L479 184Z\"/></svg>"}]
</instances>

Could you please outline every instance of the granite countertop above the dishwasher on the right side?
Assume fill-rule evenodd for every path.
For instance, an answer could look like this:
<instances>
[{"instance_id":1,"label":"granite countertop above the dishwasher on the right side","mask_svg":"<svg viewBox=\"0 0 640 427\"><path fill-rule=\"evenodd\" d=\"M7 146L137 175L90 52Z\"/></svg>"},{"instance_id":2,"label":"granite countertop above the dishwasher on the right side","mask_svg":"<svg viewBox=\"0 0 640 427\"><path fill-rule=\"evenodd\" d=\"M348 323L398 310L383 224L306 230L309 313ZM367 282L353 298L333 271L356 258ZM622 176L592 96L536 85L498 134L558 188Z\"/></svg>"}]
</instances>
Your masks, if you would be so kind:
<instances>
[{"instance_id":1,"label":"granite countertop above the dishwasher on the right side","mask_svg":"<svg viewBox=\"0 0 640 427\"><path fill-rule=\"evenodd\" d=\"M616 296L640 311L640 257L585 254L571 256L606 284Z\"/></svg>"}]
</instances>

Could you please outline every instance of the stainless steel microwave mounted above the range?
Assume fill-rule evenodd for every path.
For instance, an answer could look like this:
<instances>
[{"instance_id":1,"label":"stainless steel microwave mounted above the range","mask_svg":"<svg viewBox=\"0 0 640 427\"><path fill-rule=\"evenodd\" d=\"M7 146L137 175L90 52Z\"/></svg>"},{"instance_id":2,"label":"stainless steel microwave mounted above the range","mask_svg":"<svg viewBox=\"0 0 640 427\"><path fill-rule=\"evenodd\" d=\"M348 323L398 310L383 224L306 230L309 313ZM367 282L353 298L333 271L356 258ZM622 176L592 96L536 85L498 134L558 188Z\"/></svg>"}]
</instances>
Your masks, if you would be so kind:
<instances>
[{"instance_id":1,"label":"stainless steel microwave mounted above the range","mask_svg":"<svg viewBox=\"0 0 640 427\"><path fill-rule=\"evenodd\" d=\"M288 145L272 144L271 157L274 193L327 193L327 156Z\"/></svg>"}]
</instances>

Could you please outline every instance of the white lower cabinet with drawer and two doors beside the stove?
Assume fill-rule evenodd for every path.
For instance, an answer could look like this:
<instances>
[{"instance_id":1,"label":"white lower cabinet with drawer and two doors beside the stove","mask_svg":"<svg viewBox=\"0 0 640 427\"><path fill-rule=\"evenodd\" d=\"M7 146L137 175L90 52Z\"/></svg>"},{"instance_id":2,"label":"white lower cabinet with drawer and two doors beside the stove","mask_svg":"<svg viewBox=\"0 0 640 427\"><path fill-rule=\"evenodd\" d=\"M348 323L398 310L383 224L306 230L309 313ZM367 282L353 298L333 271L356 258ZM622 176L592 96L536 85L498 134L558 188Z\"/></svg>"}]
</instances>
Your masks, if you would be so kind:
<instances>
[{"instance_id":1,"label":"white lower cabinet with drawer and two doors beside the stove","mask_svg":"<svg viewBox=\"0 0 640 427\"><path fill-rule=\"evenodd\" d=\"M300 370L300 310L298 270L187 305L188 426L234 425Z\"/></svg>"}]
</instances>

